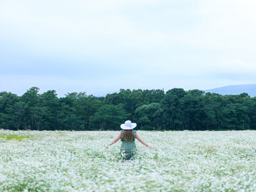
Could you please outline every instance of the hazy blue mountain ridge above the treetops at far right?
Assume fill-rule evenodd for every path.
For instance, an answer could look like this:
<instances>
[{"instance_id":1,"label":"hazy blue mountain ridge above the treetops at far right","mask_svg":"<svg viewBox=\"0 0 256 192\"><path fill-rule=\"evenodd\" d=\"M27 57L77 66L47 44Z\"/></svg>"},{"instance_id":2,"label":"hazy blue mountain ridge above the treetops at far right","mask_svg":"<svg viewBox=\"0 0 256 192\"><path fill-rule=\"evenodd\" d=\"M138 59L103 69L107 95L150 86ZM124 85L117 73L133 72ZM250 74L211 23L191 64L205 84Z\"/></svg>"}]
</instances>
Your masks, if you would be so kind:
<instances>
[{"instance_id":1,"label":"hazy blue mountain ridge above the treetops at far right","mask_svg":"<svg viewBox=\"0 0 256 192\"><path fill-rule=\"evenodd\" d=\"M241 93L248 93L250 97L256 97L256 84L244 85L229 85L218 87L214 89L202 90L204 92L219 93L221 95L240 95Z\"/></svg>"}]
</instances>

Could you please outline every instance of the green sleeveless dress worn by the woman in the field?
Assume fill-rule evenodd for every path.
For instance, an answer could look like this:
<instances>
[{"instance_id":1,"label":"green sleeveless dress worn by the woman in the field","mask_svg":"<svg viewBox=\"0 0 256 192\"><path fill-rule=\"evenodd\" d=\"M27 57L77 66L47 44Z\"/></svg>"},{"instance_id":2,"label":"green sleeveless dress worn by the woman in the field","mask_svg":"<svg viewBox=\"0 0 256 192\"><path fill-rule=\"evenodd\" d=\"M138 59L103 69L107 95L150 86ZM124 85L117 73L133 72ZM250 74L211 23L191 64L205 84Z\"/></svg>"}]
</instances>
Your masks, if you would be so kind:
<instances>
[{"instance_id":1,"label":"green sleeveless dress worn by the woman in the field","mask_svg":"<svg viewBox=\"0 0 256 192\"><path fill-rule=\"evenodd\" d=\"M122 141L122 145L121 145L121 151L120 151L120 155L123 158L123 160L132 160L133 156L136 153L136 145L134 143L136 137L136 131L133 130L133 135L132 135L132 141L131 142L127 142L126 140L124 140L124 130L122 129L121 131L122 133L122 137L121 137L121 141Z\"/></svg>"}]
</instances>

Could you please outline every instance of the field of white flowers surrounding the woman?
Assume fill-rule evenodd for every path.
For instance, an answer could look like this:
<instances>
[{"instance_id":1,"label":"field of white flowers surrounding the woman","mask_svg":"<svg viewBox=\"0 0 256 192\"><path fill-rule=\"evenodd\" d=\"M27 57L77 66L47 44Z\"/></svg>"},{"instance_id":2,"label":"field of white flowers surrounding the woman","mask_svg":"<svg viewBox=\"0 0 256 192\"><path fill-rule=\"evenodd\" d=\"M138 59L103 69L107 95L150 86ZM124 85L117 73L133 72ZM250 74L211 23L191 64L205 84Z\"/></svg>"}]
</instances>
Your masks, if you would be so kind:
<instances>
[{"instance_id":1,"label":"field of white flowers surrounding the woman","mask_svg":"<svg viewBox=\"0 0 256 192\"><path fill-rule=\"evenodd\" d=\"M0 191L256 191L256 131L138 131L127 163L118 133L0 130Z\"/></svg>"}]
</instances>

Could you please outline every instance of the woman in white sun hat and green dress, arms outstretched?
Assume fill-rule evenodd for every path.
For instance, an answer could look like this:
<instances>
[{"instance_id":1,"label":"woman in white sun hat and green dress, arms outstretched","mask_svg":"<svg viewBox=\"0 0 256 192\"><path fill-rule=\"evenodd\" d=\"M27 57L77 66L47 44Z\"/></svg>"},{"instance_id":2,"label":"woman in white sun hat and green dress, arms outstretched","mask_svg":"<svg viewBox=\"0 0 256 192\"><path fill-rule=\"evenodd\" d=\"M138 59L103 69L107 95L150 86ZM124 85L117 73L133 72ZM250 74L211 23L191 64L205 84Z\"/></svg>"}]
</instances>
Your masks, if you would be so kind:
<instances>
[{"instance_id":1,"label":"woman in white sun hat and green dress, arms outstretched","mask_svg":"<svg viewBox=\"0 0 256 192\"><path fill-rule=\"evenodd\" d=\"M134 143L135 138L139 140L142 144L144 144L146 147L151 149L151 147L147 143L140 139L136 131L133 130L133 128L135 128L136 126L136 123L132 123L129 120L125 121L124 124L120 125L122 131L119 133L116 139L111 141L111 143L105 147L108 148L108 146L114 144L116 141L121 139L121 141L123 142L121 146L121 156L124 160L132 160L134 153L136 151L136 145Z\"/></svg>"}]
</instances>

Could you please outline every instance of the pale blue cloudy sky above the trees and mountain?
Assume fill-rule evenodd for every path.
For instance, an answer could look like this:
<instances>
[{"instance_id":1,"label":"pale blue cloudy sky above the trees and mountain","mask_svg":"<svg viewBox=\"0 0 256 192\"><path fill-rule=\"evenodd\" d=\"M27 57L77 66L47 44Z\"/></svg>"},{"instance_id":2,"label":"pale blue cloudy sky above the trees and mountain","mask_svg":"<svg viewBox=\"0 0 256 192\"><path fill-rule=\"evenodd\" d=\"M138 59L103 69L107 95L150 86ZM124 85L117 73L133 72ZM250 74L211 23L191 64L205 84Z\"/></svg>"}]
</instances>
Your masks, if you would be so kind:
<instances>
[{"instance_id":1,"label":"pale blue cloudy sky above the trees and mountain","mask_svg":"<svg viewBox=\"0 0 256 192\"><path fill-rule=\"evenodd\" d=\"M0 92L256 84L255 0L2 0Z\"/></svg>"}]
</instances>

